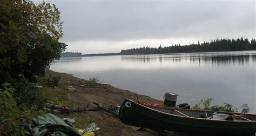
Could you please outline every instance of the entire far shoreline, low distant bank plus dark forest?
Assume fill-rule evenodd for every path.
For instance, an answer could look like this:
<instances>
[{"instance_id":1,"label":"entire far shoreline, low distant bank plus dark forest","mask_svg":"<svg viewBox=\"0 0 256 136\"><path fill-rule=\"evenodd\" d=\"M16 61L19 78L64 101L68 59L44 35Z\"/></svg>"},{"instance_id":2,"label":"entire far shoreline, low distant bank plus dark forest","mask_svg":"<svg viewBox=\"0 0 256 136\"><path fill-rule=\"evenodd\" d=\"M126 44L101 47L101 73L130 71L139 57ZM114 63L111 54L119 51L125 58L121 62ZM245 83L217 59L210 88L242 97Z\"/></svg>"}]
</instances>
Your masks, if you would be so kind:
<instances>
[{"instance_id":1,"label":"entire far shoreline, low distant bank plus dark forest","mask_svg":"<svg viewBox=\"0 0 256 136\"><path fill-rule=\"evenodd\" d=\"M195 52L228 52L228 51L255 51L255 39L238 38L238 39L215 39L210 42L204 41L198 44L180 45L162 47L143 46L139 48L123 49L120 53L97 53L97 54L82 54L78 52L64 52L60 56L68 57L83 57L83 56L109 56L109 55L139 55L139 54L166 54L166 53L195 53Z\"/></svg>"}]
</instances>

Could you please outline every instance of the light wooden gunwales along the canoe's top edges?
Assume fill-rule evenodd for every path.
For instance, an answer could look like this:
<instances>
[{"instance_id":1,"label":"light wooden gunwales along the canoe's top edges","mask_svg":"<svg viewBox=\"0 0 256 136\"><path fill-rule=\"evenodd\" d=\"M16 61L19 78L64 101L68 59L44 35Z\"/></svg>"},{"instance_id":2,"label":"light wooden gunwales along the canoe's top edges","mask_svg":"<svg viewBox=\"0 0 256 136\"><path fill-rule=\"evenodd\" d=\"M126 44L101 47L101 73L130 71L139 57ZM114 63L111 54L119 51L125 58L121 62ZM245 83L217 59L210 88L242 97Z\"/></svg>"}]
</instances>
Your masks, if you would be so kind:
<instances>
[{"instance_id":1,"label":"light wooden gunwales along the canoe's top edges","mask_svg":"<svg viewBox=\"0 0 256 136\"><path fill-rule=\"evenodd\" d=\"M173 116L173 117L178 117L178 118L186 118L186 119L193 119L193 120L211 120L211 121L218 121L218 122L232 122L232 123L256 123L256 120L214 120L214 119L208 119L208 118L196 118L196 117L185 117L185 116L180 116L177 114L171 114L171 113L166 113L166 112L162 112L162 111L158 111L155 109L151 109L147 106L144 106L142 104L136 103L134 101L132 101L131 99L127 99L125 98L127 101L132 102L133 104L137 104L139 106L142 106L143 108L146 108L148 110L154 111L154 112L159 112L162 114L166 114L167 116ZM163 107L159 107L159 108L163 108ZM171 110L187 110L187 111L206 111L206 110L193 110L193 109L177 109L177 108L163 108L163 109L171 109ZM206 111L206 112L219 112L219 111ZM235 113L235 114L244 114L244 113L237 113L237 112L219 112L219 113L227 113L227 114L231 114L231 113ZM247 113L245 113L247 114ZM251 116L256 116L256 114L247 114L247 115L251 115Z\"/></svg>"}]
</instances>

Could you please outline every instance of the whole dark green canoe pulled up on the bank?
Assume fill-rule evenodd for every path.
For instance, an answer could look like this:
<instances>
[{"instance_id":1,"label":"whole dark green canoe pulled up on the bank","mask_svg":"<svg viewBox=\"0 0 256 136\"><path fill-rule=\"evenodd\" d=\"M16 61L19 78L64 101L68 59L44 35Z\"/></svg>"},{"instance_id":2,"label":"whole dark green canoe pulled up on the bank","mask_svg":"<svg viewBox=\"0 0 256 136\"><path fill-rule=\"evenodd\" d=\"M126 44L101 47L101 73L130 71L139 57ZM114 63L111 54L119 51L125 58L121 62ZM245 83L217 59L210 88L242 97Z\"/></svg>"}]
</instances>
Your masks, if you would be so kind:
<instances>
[{"instance_id":1,"label":"whole dark green canoe pulled up on the bank","mask_svg":"<svg viewBox=\"0 0 256 136\"><path fill-rule=\"evenodd\" d=\"M125 99L120 106L120 120L132 126L188 133L253 134L256 132L256 114L230 114L235 120L200 118L215 111L176 109L145 106Z\"/></svg>"}]
</instances>

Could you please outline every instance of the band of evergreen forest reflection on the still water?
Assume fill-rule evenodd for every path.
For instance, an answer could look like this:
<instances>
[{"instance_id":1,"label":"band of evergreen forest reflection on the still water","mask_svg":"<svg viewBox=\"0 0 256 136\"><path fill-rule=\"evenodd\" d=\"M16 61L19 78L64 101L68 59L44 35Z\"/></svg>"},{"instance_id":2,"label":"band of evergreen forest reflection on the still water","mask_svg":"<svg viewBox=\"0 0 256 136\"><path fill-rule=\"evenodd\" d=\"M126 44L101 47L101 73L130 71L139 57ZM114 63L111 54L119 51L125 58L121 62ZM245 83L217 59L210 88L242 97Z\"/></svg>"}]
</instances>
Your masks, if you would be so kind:
<instances>
[{"instance_id":1,"label":"band of evergreen forest reflection on the still water","mask_svg":"<svg viewBox=\"0 0 256 136\"><path fill-rule=\"evenodd\" d=\"M256 62L256 54L233 54L233 55L224 55L224 54L164 54L164 55L129 55L122 56L122 61L133 61L141 63L150 63L150 62L163 62L173 64L180 63L190 63L193 65L247 65L248 63Z\"/></svg>"}]
</instances>

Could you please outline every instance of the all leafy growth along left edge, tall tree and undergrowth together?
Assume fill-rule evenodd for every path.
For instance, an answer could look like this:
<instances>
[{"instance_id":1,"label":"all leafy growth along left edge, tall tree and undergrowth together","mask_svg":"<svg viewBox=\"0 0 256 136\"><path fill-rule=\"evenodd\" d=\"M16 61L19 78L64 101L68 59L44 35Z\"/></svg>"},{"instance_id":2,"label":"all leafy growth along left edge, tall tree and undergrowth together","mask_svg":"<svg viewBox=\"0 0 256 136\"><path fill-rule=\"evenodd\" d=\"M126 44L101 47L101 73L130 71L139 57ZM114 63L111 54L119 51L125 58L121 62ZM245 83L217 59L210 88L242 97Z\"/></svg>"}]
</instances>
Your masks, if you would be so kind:
<instances>
[{"instance_id":1,"label":"all leafy growth along left edge, tall tree and undergrowth together","mask_svg":"<svg viewBox=\"0 0 256 136\"><path fill-rule=\"evenodd\" d=\"M62 23L54 4L0 1L0 135L42 113L46 100L32 82L65 50Z\"/></svg>"}]
</instances>

